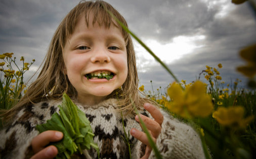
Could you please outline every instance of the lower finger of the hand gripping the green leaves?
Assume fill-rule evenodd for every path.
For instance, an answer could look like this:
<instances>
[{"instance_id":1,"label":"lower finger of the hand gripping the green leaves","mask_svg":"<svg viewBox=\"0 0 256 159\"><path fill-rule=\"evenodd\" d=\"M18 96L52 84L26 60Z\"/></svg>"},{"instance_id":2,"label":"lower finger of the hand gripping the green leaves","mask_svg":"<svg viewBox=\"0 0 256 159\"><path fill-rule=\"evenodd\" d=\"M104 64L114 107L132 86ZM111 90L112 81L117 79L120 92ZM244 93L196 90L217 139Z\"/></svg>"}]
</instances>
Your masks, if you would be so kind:
<instances>
[{"instance_id":1,"label":"lower finger of the hand gripping the green leaves","mask_svg":"<svg viewBox=\"0 0 256 159\"><path fill-rule=\"evenodd\" d=\"M41 158L41 159L48 159L48 158L54 158L58 154L58 149L51 145L48 146L42 150L40 150L38 153L34 154L31 159L34 158Z\"/></svg>"}]
</instances>

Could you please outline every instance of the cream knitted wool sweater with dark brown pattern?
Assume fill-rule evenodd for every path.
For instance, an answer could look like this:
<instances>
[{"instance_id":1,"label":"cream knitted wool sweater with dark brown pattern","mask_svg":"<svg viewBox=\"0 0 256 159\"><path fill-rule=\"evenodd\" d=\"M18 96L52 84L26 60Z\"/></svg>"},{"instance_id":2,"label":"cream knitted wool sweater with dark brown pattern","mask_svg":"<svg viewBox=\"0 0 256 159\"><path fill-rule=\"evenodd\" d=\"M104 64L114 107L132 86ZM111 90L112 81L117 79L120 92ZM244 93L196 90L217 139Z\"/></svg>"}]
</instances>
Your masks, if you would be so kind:
<instances>
[{"instance_id":1,"label":"cream knitted wool sweater with dark brown pattern","mask_svg":"<svg viewBox=\"0 0 256 159\"><path fill-rule=\"evenodd\" d=\"M0 158L30 158L33 155L31 140L38 135L37 124L46 123L56 111L60 102L44 101L22 109L11 125L0 131ZM94 131L94 141L100 148L101 158L129 158L129 149L124 142L121 113L116 111L115 99L108 99L97 105L84 106L76 103L86 113ZM144 111L143 115L152 116ZM189 125L182 123L161 110L164 120L156 146L163 158L204 158L201 140ZM125 112L123 112L125 114ZM141 130L135 115L123 116L125 131L131 128ZM132 158L140 158L145 153L146 145L130 135ZM89 154L97 158L96 150ZM85 158L81 154L73 157ZM156 158L152 151L149 158Z\"/></svg>"}]
</instances>

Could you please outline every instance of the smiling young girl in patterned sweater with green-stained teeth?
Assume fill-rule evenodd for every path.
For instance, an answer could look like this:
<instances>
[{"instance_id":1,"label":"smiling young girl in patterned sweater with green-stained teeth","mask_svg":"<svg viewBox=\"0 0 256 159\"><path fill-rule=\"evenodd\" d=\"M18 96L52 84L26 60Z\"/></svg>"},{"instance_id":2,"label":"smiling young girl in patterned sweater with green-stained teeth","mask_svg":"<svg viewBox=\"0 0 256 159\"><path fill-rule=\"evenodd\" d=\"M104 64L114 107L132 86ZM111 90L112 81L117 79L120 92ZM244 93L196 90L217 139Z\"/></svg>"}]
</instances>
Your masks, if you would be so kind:
<instances>
[{"instance_id":1,"label":"smiling young girl in patterned sweater with green-stained teeth","mask_svg":"<svg viewBox=\"0 0 256 159\"><path fill-rule=\"evenodd\" d=\"M61 140L63 134L53 130L38 134L35 126L59 111L65 92L90 120L101 158L130 157L122 138L121 111L125 130L131 133L132 158L155 158L131 99L163 158L204 158L200 138L190 126L138 94L132 39L103 5L127 26L103 1L81 2L68 13L53 36L36 81L4 114L9 124L1 130L0 157L54 158L58 149L48 144ZM89 154L76 157L97 158L93 148Z\"/></svg>"}]
</instances>

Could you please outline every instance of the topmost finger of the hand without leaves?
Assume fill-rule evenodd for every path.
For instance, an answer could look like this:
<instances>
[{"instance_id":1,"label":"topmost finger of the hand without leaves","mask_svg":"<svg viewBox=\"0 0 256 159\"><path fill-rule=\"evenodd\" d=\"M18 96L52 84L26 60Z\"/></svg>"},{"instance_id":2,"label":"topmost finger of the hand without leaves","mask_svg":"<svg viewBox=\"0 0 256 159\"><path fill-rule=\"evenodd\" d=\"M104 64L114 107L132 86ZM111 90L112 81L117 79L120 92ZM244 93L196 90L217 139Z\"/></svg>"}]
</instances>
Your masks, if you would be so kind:
<instances>
[{"instance_id":1,"label":"topmost finger of the hand without leaves","mask_svg":"<svg viewBox=\"0 0 256 159\"><path fill-rule=\"evenodd\" d=\"M159 109L149 103L144 104L144 108L152 115L156 122L161 126L163 122L163 115Z\"/></svg>"}]
</instances>

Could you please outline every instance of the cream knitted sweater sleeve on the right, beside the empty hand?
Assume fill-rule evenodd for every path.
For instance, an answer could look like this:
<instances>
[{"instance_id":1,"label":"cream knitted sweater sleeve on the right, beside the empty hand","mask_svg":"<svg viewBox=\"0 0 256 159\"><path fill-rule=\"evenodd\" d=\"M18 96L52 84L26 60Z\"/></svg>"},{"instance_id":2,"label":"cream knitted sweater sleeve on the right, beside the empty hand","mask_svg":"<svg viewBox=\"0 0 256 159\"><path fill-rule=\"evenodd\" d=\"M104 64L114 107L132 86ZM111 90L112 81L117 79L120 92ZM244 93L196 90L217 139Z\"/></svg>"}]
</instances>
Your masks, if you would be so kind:
<instances>
[{"instance_id":1,"label":"cream knitted sweater sleeve on the right, beside the empty hand","mask_svg":"<svg viewBox=\"0 0 256 159\"><path fill-rule=\"evenodd\" d=\"M156 147L162 158L205 158L201 139L195 130L162 110L161 113L164 119L161 132L156 139ZM133 157L142 157L145 147L142 142L137 142ZM149 158L156 158L153 150Z\"/></svg>"}]
</instances>

